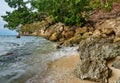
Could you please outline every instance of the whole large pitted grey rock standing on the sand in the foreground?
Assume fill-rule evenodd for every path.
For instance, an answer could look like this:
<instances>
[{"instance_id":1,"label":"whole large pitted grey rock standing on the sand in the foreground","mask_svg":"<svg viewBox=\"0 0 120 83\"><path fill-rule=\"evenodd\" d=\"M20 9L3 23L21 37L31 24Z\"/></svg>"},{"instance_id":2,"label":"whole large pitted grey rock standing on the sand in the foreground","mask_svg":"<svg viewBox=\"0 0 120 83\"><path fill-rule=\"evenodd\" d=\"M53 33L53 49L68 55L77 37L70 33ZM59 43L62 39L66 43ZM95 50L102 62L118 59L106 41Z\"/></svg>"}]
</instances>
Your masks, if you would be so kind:
<instances>
[{"instance_id":1,"label":"whole large pitted grey rock standing on the sand in the foreground","mask_svg":"<svg viewBox=\"0 0 120 83\"><path fill-rule=\"evenodd\" d=\"M111 70L106 61L120 55L120 42L114 42L114 36L101 38L99 34L92 35L81 40L79 54L80 62L75 70L77 77L108 83Z\"/></svg>"}]
</instances>

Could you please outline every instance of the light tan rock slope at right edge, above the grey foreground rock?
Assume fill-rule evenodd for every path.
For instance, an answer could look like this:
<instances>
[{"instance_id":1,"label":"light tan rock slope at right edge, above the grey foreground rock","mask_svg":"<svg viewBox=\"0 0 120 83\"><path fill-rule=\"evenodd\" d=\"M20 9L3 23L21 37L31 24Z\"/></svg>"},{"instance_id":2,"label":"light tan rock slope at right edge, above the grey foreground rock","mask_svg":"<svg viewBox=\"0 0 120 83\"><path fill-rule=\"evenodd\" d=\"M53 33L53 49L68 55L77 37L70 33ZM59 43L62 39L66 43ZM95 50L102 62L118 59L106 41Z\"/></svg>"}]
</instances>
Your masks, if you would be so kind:
<instances>
[{"instance_id":1,"label":"light tan rock slope at right edge, above the grey foreground rock","mask_svg":"<svg viewBox=\"0 0 120 83\"><path fill-rule=\"evenodd\" d=\"M106 20L101 25L99 25L98 29L102 34L115 35L117 38L120 38L120 17Z\"/></svg>"}]
</instances>

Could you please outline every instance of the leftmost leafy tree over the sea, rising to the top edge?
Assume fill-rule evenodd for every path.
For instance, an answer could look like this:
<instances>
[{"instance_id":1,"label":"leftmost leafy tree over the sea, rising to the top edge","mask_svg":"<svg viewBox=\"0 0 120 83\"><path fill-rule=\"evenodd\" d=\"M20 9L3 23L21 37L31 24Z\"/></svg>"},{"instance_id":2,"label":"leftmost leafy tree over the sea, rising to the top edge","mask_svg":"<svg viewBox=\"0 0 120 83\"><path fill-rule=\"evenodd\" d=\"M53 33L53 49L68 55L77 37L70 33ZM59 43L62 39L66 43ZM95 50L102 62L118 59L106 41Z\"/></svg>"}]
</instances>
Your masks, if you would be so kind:
<instances>
[{"instance_id":1,"label":"leftmost leafy tree over the sea, rising to the top edge","mask_svg":"<svg viewBox=\"0 0 120 83\"><path fill-rule=\"evenodd\" d=\"M31 9L27 8L28 1L23 0L5 0L11 8L15 8L12 12L6 12L6 15L2 16L3 20L7 23L5 27L14 30L18 25L32 23L34 21L34 14Z\"/></svg>"}]
</instances>

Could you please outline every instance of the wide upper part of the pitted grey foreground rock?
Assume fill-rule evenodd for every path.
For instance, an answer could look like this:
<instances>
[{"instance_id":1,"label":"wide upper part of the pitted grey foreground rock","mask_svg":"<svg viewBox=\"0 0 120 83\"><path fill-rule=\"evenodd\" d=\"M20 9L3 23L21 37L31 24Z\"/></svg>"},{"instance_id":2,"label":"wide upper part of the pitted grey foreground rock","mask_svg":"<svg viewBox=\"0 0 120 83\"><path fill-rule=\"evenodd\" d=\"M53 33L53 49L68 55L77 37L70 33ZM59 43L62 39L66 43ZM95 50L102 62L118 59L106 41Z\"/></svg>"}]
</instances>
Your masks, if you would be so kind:
<instances>
[{"instance_id":1,"label":"wide upper part of the pitted grey foreground rock","mask_svg":"<svg viewBox=\"0 0 120 83\"><path fill-rule=\"evenodd\" d=\"M89 37L79 44L80 59L98 57L112 59L120 55L120 42L113 42L113 37L98 38Z\"/></svg>"}]
</instances>

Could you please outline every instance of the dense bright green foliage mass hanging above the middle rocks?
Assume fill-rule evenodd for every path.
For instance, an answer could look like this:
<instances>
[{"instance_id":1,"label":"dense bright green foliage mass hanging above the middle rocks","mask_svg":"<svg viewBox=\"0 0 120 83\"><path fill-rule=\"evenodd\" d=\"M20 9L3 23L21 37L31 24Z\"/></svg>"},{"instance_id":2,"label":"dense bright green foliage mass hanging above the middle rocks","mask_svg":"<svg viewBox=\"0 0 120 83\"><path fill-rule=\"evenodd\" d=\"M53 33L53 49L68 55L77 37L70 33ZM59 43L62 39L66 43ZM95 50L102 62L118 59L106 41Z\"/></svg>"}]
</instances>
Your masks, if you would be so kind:
<instances>
[{"instance_id":1,"label":"dense bright green foliage mass hanging above the middle rocks","mask_svg":"<svg viewBox=\"0 0 120 83\"><path fill-rule=\"evenodd\" d=\"M33 7L39 12L47 12L58 22L66 25L81 26L85 22L91 8L90 0L31 0Z\"/></svg>"}]
</instances>

